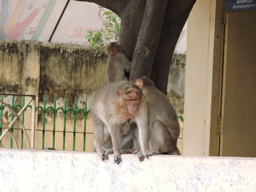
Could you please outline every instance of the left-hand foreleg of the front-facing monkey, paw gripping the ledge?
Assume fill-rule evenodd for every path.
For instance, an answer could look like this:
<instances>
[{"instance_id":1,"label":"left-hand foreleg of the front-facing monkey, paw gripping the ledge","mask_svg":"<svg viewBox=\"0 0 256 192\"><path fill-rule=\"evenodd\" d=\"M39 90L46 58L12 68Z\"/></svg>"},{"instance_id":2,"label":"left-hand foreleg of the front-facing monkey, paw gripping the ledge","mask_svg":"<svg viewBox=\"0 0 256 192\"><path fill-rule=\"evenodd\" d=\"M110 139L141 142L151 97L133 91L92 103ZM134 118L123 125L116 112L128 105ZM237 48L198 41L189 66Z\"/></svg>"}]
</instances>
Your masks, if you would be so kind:
<instances>
[{"instance_id":1,"label":"left-hand foreleg of the front-facing monkey, paw gripping the ledge","mask_svg":"<svg viewBox=\"0 0 256 192\"><path fill-rule=\"evenodd\" d=\"M109 126L110 135L113 144L114 161L116 164L121 162L121 130L118 125Z\"/></svg>"}]
</instances>

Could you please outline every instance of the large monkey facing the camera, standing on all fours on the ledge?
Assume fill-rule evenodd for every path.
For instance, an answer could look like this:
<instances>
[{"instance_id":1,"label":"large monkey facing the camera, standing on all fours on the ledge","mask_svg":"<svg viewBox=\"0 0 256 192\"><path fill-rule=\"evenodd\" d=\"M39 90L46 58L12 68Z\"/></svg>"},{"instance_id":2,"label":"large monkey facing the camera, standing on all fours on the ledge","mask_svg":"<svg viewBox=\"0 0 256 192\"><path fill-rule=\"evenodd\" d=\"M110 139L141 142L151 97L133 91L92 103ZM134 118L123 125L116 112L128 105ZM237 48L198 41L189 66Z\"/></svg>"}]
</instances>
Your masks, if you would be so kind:
<instances>
[{"instance_id":1,"label":"large monkey facing the camera, standing on all fours on the ledge","mask_svg":"<svg viewBox=\"0 0 256 192\"><path fill-rule=\"evenodd\" d=\"M110 150L104 147L105 126L113 143L114 162L121 162L121 127L129 121L138 127L139 159L159 153L148 147L148 107L140 88L134 82L111 82L99 88L89 99L94 147L103 161L108 159Z\"/></svg>"}]
</instances>

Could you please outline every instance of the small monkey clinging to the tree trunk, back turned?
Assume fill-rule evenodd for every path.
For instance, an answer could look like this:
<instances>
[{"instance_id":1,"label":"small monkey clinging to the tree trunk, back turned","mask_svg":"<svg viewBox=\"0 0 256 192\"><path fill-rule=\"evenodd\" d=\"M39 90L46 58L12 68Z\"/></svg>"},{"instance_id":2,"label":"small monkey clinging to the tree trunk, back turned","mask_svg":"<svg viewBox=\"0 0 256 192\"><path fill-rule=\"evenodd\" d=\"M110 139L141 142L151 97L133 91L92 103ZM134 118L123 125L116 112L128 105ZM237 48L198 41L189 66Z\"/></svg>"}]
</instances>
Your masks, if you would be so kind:
<instances>
[{"instance_id":1,"label":"small monkey clinging to the tree trunk, back turned","mask_svg":"<svg viewBox=\"0 0 256 192\"><path fill-rule=\"evenodd\" d=\"M105 47L108 53L108 61L106 64L106 79L107 82L117 82L127 80L131 62L122 53L122 47L117 42L110 42Z\"/></svg>"}]
</instances>

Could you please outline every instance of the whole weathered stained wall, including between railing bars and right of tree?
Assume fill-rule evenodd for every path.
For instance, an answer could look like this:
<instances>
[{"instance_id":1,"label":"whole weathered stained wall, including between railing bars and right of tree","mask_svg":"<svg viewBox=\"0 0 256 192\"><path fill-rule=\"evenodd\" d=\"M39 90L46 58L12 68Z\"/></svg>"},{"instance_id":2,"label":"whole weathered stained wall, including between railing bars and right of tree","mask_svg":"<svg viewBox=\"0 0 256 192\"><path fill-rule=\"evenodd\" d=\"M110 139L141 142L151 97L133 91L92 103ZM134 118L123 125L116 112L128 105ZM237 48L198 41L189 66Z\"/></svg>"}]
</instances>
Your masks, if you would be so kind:
<instances>
[{"instance_id":1,"label":"whole weathered stained wall, including between railing bars and right of tree","mask_svg":"<svg viewBox=\"0 0 256 192\"><path fill-rule=\"evenodd\" d=\"M107 55L99 49L92 49L79 45L61 45L33 41L0 41L0 93L20 93L37 95L37 105L42 105L46 97L47 105L53 105L53 98L58 99L56 107L63 107L64 98L67 106L72 107L77 99L78 107L83 108L85 99L88 99L99 86L105 84L105 62ZM178 107L178 113L183 112L184 96L184 66L185 55L174 55L170 69L169 98L171 103ZM10 102L9 102L10 103ZM7 119L10 119L10 113ZM63 130L62 116L58 115L56 130ZM27 119L31 119L29 116ZM40 120L40 117L38 118ZM38 120L37 128L42 129ZM9 120L10 122L10 120ZM26 127L30 122L26 122ZM51 114L47 115L46 127L53 126ZM88 131L90 128L88 122ZM68 118L67 129L72 131L72 118ZM78 120L78 131L83 131L83 120ZM15 133L18 136L18 133ZM46 137L52 137L46 133ZM88 136L89 137L89 136ZM182 137L182 125L181 125ZM92 143L92 137L86 142ZM78 143L80 140L77 140ZM6 146L10 143L5 141ZM72 150L72 138L69 139ZM46 140L45 147L51 147L52 141ZM56 139L56 149L61 149L61 136ZM182 139L178 139L181 149ZM5 145L4 145L5 146ZM36 148L42 146L42 134L36 134ZM87 145L92 150L91 145ZM25 146L26 147L26 146ZM78 147L77 150L82 150Z\"/></svg>"}]
</instances>

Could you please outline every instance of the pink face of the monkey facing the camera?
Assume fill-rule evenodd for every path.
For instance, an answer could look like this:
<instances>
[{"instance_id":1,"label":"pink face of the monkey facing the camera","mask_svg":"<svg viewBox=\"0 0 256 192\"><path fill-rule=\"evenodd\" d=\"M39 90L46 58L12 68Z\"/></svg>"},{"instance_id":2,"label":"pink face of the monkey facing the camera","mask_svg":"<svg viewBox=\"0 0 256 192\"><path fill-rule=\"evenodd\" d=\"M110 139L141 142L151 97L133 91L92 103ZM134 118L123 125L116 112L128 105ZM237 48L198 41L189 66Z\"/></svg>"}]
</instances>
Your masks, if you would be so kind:
<instances>
[{"instance_id":1,"label":"pink face of the monkey facing the camera","mask_svg":"<svg viewBox=\"0 0 256 192\"><path fill-rule=\"evenodd\" d=\"M136 92L129 92L124 96L124 103L127 106L129 113L134 114L138 112L141 102L140 94Z\"/></svg>"}]
</instances>

